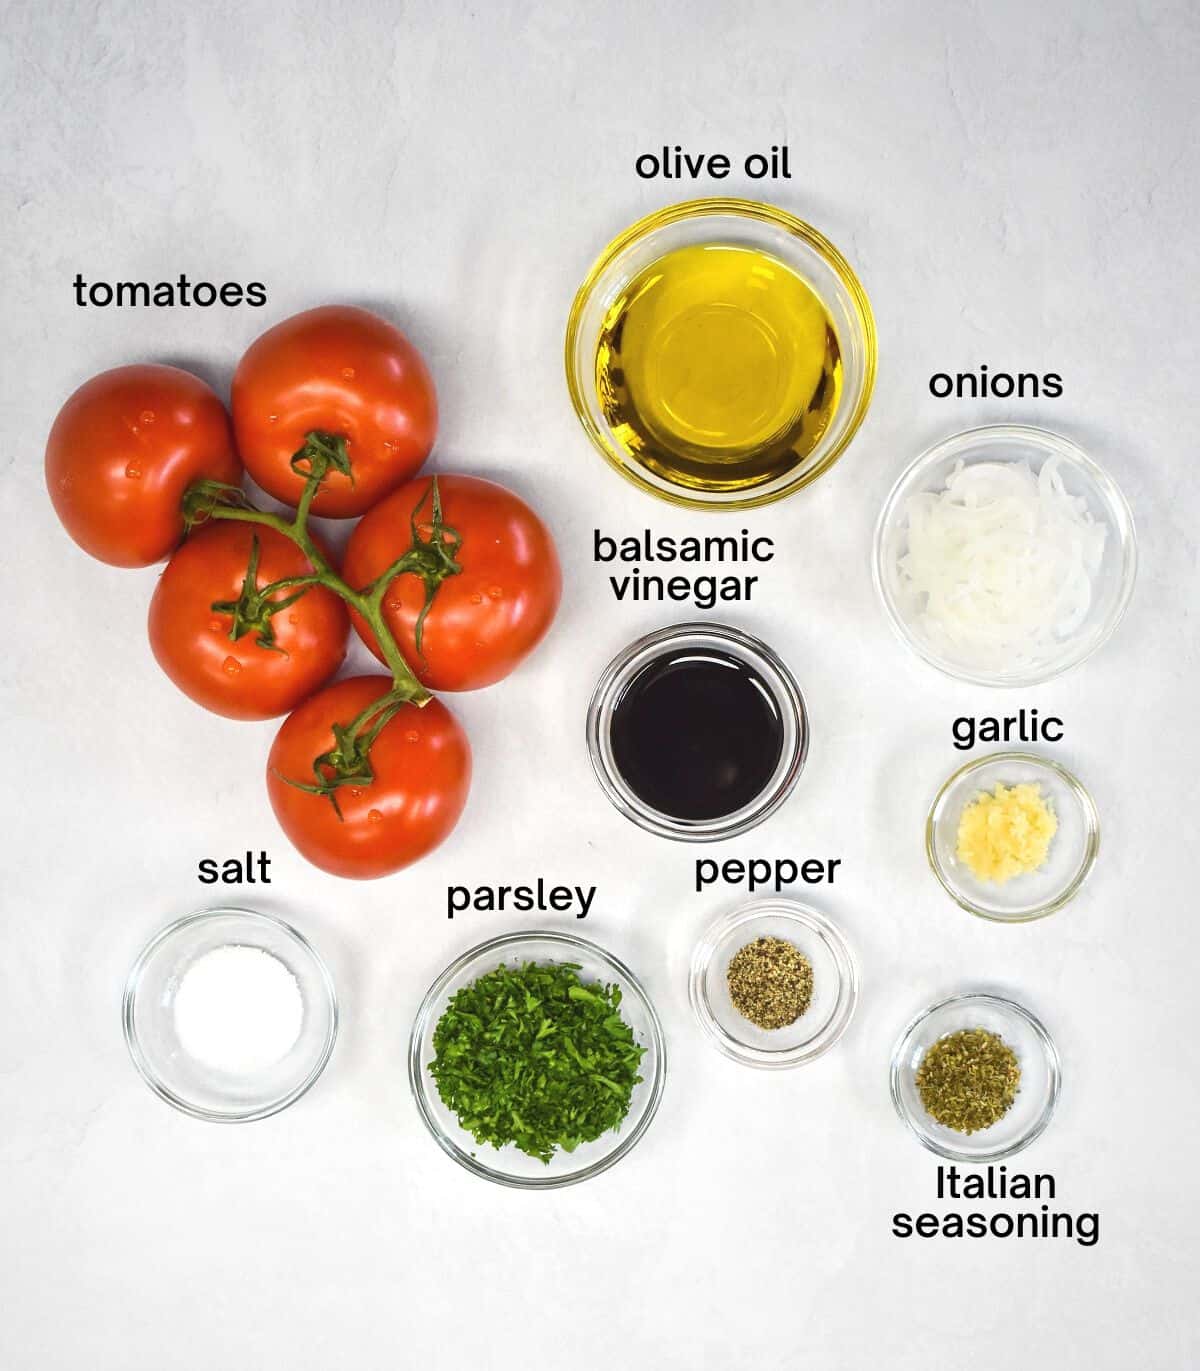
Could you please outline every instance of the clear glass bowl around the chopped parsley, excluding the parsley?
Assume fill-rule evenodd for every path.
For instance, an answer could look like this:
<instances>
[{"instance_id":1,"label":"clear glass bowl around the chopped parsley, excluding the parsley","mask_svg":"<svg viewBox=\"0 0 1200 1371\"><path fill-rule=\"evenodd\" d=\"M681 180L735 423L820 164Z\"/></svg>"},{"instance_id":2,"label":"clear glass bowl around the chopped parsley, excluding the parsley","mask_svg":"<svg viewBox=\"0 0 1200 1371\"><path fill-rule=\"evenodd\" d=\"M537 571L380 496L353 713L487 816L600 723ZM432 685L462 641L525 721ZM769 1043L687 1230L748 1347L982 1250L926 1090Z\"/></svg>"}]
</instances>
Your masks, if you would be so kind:
<instances>
[{"instance_id":1,"label":"clear glass bowl around the chopped parsley, excluding the parsley","mask_svg":"<svg viewBox=\"0 0 1200 1371\"><path fill-rule=\"evenodd\" d=\"M575 1152L555 1152L549 1163L529 1157L518 1148L492 1148L476 1142L459 1127L458 1119L437 1094L437 1083L429 1075L433 1060L433 1031L455 991L479 976L495 971L501 964L523 965L536 962L569 962L579 967L584 980L614 984L621 991L620 1012L634 1030L634 1036L646 1047L642 1057L642 1082L634 1087L629 1112L621 1127L594 1142L581 1143ZM667 1078L667 1043L658 1015L638 978L624 962L610 953L575 934L531 931L503 934L472 947L453 961L433 982L421 1001L409 1043L409 1083L417 1108L429 1132L447 1156L472 1175L495 1180L518 1190L553 1190L590 1180L616 1165L632 1152L638 1139L650 1127Z\"/></svg>"}]
</instances>

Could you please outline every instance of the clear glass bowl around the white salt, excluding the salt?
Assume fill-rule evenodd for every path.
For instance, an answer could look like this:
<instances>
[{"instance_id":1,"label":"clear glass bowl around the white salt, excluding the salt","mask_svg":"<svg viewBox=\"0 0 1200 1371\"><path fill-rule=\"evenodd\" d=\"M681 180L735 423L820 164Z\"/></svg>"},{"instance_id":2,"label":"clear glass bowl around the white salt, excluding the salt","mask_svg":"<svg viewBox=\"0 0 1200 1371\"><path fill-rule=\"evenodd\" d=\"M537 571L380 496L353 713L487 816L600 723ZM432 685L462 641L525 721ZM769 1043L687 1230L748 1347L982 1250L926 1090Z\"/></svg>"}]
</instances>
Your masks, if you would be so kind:
<instances>
[{"instance_id":1,"label":"clear glass bowl around the white salt, excluding the salt","mask_svg":"<svg viewBox=\"0 0 1200 1371\"><path fill-rule=\"evenodd\" d=\"M296 978L300 1035L277 1063L251 1073L218 1071L180 1043L174 999L188 968L217 947L259 947ZM287 1109L317 1080L337 1038L337 997L325 962L291 924L248 909L188 914L145 945L125 983L125 1042L149 1089L193 1119L250 1123Z\"/></svg>"}]
</instances>

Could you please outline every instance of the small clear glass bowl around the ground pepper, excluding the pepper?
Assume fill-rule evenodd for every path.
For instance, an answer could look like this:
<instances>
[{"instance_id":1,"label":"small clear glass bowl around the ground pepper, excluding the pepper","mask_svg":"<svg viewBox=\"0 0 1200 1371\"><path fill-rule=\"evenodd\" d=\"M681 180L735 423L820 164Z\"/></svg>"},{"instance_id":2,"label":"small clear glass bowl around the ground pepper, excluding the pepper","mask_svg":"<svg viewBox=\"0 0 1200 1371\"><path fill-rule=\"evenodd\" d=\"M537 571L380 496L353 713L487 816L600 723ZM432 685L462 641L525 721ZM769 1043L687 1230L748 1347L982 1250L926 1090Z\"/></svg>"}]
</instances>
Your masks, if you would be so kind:
<instances>
[{"instance_id":1,"label":"small clear glass bowl around the ground pepper, excluding the pepper","mask_svg":"<svg viewBox=\"0 0 1200 1371\"><path fill-rule=\"evenodd\" d=\"M812 964L812 1004L786 1028L758 1028L730 998L730 960L756 938L782 938ZM798 1067L846 1031L859 1001L859 965L824 914L793 899L756 899L724 914L697 943L688 998L701 1028L727 1057L746 1067Z\"/></svg>"}]
</instances>

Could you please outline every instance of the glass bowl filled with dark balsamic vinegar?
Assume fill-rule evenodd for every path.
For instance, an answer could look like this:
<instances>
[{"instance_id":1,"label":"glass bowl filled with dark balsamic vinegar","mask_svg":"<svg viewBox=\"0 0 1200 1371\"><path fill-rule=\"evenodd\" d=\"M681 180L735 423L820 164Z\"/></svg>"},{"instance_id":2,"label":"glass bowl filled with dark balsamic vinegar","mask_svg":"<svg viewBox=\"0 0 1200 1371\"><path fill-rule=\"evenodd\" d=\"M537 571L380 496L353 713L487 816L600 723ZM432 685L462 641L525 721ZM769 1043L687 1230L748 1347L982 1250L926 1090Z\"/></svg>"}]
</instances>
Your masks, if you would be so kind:
<instances>
[{"instance_id":1,"label":"glass bowl filled with dark balsamic vinegar","mask_svg":"<svg viewBox=\"0 0 1200 1371\"><path fill-rule=\"evenodd\" d=\"M682 842L746 832L787 799L808 755L795 679L724 624L647 633L605 668L587 712L592 769L635 824Z\"/></svg>"}]
</instances>

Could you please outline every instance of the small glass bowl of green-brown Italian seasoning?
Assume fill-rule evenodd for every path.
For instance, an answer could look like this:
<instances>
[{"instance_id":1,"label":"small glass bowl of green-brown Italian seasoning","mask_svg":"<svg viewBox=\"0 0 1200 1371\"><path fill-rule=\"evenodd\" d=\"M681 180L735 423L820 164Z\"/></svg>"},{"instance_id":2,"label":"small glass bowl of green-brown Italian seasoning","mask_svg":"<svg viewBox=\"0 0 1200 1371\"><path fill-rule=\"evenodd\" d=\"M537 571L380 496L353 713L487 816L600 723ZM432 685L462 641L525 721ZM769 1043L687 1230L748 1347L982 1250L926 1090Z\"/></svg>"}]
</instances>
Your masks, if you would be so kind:
<instances>
[{"instance_id":1,"label":"small glass bowl of green-brown Italian seasoning","mask_svg":"<svg viewBox=\"0 0 1200 1371\"><path fill-rule=\"evenodd\" d=\"M1000 1161L1040 1137L1059 1100L1059 1053L1041 1020L1003 995L931 1005L891 1054L891 1101L923 1148Z\"/></svg>"}]
</instances>

